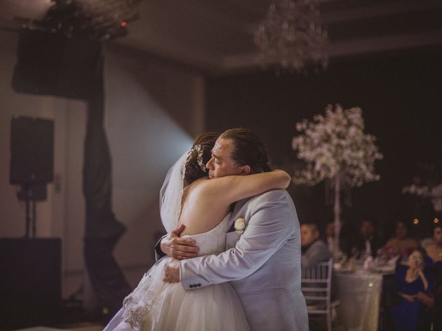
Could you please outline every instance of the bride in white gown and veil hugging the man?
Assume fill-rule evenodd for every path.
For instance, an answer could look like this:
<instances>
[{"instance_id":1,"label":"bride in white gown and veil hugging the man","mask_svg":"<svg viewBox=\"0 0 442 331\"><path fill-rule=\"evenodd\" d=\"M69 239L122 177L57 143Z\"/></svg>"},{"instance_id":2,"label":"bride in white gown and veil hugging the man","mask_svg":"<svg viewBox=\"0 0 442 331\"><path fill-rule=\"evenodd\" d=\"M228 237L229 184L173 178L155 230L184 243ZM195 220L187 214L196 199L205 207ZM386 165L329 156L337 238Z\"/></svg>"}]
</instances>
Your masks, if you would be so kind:
<instances>
[{"instance_id":1,"label":"bride in white gown and veil hugging the man","mask_svg":"<svg viewBox=\"0 0 442 331\"><path fill-rule=\"evenodd\" d=\"M289 174L282 170L209 180L205 165L217 138L213 132L200 134L192 149L169 170L162 188L164 227L171 232L184 224L183 235L195 239L199 255L225 250L231 203L267 190L287 188L290 182ZM248 172L238 167L238 174ZM162 280L170 261L164 257L144 274L104 331L249 330L240 300L229 283L186 291L181 283Z\"/></svg>"}]
</instances>

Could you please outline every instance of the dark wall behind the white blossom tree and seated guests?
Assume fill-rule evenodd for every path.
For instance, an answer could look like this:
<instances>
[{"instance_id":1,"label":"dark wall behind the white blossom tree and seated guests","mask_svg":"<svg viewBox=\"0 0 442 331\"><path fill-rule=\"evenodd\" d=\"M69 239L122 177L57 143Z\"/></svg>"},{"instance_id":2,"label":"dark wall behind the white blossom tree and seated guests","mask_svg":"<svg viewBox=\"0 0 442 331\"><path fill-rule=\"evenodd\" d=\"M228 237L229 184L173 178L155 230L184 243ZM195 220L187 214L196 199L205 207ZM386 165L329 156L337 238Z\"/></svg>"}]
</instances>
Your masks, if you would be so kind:
<instances>
[{"instance_id":1,"label":"dark wall behind the white blossom tree and seated guests","mask_svg":"<svg viewBox=\"0 0 442 331\"><path fill-rule=\"evenodd\" d=\"M273 165L296 160L291 139L295 124L323 113L327 103L363 109L365 131L374 134L384 159L381 181L352 190L345 217L372 217L382 227L397 214L428 218L431 212L406 201L418 161L442 159L442 48L332 61L325 72L276 77L273 72L213 77L206 81L206 130L244 127L267 143ZM325 223L324 185L289 188L301 222ZM405 215L405 216L404 216Z\"/></svg>"}]
</instances>

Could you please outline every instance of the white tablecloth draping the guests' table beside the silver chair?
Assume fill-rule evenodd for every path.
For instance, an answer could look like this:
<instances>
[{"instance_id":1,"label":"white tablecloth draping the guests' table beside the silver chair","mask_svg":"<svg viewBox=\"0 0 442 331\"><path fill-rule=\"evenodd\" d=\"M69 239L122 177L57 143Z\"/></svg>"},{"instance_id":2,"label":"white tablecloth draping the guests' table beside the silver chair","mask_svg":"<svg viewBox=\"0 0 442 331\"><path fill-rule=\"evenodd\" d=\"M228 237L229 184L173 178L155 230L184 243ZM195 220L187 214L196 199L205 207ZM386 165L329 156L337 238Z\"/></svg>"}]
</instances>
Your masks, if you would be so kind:
<instances>
[{"instance_id":1,"label":"white tablecloth draping the guests' table beside the silver chair","mask_svg":"<svg viewBox=\"0 0 442 331\"><path fill-rule=\"evenodd\" d=\"M334 291L340 300L337 308L338 325L348 331L378 330L382 274L356 270L335 272Z\"/></svg>"}]
</instances>

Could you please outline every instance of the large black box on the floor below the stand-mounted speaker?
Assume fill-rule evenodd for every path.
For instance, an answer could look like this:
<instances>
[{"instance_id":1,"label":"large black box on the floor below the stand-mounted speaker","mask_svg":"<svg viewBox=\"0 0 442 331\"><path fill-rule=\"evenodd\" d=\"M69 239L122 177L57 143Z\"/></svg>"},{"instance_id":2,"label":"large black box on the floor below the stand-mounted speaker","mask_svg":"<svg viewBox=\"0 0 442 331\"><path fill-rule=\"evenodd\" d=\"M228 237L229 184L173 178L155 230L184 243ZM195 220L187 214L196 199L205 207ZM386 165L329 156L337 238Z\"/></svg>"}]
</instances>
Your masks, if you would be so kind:
<instances>
[{"instance_id":1,"label":"large black box on the floor below the stand-mounted speaker","mask_svg":"<svg viewBox=\"0 0 442 331\"><path fill-rule=\"evenodd\" d=\"M0 239L0 330L54 325L61 311L61 239Z\"/></svg>"}]
</instances>

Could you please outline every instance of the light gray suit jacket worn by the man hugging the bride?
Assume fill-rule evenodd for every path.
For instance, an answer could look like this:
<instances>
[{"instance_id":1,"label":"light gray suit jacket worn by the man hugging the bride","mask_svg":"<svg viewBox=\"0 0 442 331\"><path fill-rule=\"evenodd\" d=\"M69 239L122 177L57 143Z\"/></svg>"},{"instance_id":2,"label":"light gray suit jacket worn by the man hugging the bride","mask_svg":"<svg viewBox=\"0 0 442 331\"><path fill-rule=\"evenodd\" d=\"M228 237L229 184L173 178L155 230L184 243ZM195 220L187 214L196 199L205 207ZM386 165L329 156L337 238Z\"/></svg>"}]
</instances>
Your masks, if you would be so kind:
<instances>
[{"instance_id":1,"label":"light gray suit jacket worn by the man hugging the bride","mask_svg":"<svg viewBox=\"0 0 442 331\"><path fill-rule=\"evenodd\" d=\"M238 217L247 226L243 234L227 233L226 252L181 261L182 285L191 290L230 281L251 330L308 330L299 222L291 197L273 190L238 201L231 223Z\"/></svg>"}]
</instances>

